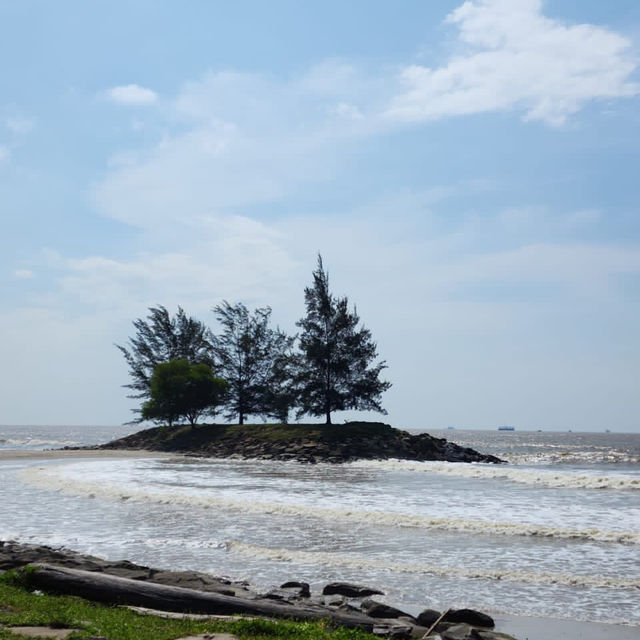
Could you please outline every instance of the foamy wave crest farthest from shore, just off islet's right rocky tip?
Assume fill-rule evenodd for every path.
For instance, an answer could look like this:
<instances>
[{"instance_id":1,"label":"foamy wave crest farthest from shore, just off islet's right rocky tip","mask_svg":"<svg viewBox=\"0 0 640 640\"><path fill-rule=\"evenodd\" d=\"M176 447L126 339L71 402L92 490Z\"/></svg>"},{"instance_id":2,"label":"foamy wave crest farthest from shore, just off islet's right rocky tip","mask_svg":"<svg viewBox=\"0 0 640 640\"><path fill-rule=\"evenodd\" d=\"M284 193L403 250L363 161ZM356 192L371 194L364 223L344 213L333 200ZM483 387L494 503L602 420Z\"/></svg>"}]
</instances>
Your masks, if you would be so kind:
<instances>
[{"instance_id":1,"label":"foamy wave crest farthest from shore, just off islet's right rocky tip","mask_svg":"<svg viewBox=\"0 0 640 640\"><path fill-rule=\"evenodd\" d=\"M411 460L359 460L354 467L380 471L415 471L480 480L508 480L538 487L566 489L623 489L640 491L640 477L632 475L595 476L550 469L523 469L517 466L468 464L461 462L414 462Z\"/></svg>"}]
</instances>

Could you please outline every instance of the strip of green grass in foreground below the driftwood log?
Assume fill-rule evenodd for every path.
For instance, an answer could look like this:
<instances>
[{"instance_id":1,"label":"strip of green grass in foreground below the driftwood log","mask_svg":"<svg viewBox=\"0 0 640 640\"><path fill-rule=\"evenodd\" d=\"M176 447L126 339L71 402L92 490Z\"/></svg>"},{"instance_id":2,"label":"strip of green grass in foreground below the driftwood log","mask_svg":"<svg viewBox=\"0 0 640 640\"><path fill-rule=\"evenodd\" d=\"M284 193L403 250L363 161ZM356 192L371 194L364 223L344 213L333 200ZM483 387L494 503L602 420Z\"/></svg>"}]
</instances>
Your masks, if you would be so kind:
<instances>
[{"instance_id":1,"label":"strip of green grass in foreground below the driftwood log","mask_svg":"<svg viewBox=\"0 0 640 640\"><path fill-rule=\"evenodd\" d=\"M0 625L77 628L70 636L81 640L103 636L109 640L173 640L198 633L232 633L246 640L373 640L355 629L331 629L324 622L272 620L196 621L141 616L122 607L110 607L69 596L31 592L28 576L0 575ZM23 638L0 627L0 640Z\"/></svg>"}]
</instances>

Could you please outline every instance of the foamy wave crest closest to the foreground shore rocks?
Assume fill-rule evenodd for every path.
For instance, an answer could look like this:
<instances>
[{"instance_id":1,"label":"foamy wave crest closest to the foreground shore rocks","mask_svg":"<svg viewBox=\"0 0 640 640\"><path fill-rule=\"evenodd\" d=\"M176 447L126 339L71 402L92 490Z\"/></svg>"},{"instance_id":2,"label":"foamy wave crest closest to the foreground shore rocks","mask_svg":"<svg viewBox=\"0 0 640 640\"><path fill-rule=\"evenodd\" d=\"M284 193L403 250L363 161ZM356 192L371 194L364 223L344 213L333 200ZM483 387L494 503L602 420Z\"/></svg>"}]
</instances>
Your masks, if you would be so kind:
<instances>
[{"instance_id":1,"label":"foamy wave crest closest to the foreground shore rocks","mask_svg":"<svg viewBox=\"0 0 640 640\"><path fill-rule=\"evenodd\" d=\"M599 587L608 589L639 589L640 578L619 578L611 576L588 576L569 573L511 571L507 569L486 569L472 567L448 567L420 565L416 563L389 562L386 558L340 554L324 551L298 551L293 549L273 549L244 542L231 541L229 551L259 557L275 562L291 562L306 565L324 565L349 569L379 569L394 573L428 574L457 578L480 578L485 580L510 580L525 584L563 585L572 587Z\"/></svg>"}]
</instances>

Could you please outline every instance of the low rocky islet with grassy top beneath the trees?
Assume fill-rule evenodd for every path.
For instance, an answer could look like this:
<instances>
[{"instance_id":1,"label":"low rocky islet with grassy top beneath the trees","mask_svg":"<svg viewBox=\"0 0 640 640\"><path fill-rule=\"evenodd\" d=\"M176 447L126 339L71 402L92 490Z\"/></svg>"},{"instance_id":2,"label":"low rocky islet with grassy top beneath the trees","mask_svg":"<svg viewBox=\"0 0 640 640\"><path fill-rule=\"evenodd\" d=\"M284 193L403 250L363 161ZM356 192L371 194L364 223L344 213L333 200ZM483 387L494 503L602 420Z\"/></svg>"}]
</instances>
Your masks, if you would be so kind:
<instances>
[{"instance_id":1,"label":"low rocky islet with grassy top beneath the trees","mask_svg":"<svg viewBox=\"0 0 640 640\"><path fill-rule=\"evenodd\" d=\"M355 460L504 462L428 433L411 434L382 422L325 424L211 424L153 427L98 445L212 458L259 458L342 463Z\"/></svg>"}]
</instances>

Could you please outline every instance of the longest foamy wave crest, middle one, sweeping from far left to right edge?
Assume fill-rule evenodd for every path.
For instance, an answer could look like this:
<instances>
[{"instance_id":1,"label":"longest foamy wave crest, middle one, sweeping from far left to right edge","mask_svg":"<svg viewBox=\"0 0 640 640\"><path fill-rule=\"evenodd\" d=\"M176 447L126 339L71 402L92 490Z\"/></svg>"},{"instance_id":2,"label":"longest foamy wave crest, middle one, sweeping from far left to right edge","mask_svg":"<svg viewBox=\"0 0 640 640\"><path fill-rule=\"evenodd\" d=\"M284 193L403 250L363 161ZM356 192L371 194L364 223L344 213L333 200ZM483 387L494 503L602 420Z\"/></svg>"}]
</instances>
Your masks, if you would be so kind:
<instances>
[{"instance_id":1,"label":"longest foamy wave crest, middle one, sweeping from far left to right edge","mask_svg":"<svg viewBox=\"0 0 640 640\"><path fill-rule=\"evenodd\" d=\"M71 495L91 498L101 497L110 500L130 500L132 502L153 502L156 504L192 505L203 508L259 513L285 517L306 517L327 521L354 521L389 527L435 529L457 531L461 533L535 536L540 538L564 538L640 544L640 533L635 531L615 531L604 529L565 529L535 523L494 522L468 520L463 518L419 516L389 511L364 511L345 508L327 508L280 502L259 502L255 500L232 500L212 495L194 494L180 491L149 491L136 487L107 485L104 482L76 480L60 475L64 469L73 465L57 465L39 469L28 468L19 472L24 482L41 489L59 491Z\"/></svg>"}]
</instances>

